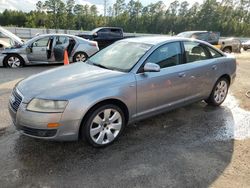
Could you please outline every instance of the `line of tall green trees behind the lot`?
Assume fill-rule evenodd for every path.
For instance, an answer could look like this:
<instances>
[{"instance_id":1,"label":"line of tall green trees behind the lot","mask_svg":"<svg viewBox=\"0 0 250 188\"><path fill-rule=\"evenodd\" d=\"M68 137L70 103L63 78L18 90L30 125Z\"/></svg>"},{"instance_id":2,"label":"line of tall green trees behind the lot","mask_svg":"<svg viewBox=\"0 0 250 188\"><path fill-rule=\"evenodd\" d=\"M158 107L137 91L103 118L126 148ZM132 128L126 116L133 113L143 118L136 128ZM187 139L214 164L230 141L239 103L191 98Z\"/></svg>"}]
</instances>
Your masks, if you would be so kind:
<instances>
[{"instance_id":1,"label":"line of tall green trees behind the lot","mask_svg":"<svg viewBox=\"0 0 250 188\"><path fill-rule=\"evenodd\" d=\"M76 4L74 0L38 1L28 13L5 10L0 25L32 28L92 30L100 26L119 26L126 32L177 34L187 30L219 31L223 36L250 36L250 1L204 0L190 5L175 0L143 6L139 0L116 0L106 14L95 5Z\"/></svg>"}]
</instances>

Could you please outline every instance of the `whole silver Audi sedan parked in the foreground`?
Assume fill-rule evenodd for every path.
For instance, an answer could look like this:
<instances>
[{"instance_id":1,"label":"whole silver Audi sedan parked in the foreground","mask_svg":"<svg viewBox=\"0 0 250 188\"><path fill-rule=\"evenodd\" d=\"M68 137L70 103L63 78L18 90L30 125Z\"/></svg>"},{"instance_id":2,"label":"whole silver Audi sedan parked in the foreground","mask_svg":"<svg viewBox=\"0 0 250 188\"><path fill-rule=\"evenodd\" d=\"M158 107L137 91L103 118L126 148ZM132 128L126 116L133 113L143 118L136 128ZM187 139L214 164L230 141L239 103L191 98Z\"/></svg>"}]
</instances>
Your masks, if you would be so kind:
<instances>
[{"instance_id":1,"label":"whole silver Audi sedan parked in the foreground","mask_svg":"<svg viewBox=\"0 0 250 188\"><path fill-rule=\"evenodd\" d=\"M235 58L206 42L130 38L19 82L9 112L27 136L101 147L128 123L200 100L220 105L235 72Z\"/></svg>"}]
</instances>

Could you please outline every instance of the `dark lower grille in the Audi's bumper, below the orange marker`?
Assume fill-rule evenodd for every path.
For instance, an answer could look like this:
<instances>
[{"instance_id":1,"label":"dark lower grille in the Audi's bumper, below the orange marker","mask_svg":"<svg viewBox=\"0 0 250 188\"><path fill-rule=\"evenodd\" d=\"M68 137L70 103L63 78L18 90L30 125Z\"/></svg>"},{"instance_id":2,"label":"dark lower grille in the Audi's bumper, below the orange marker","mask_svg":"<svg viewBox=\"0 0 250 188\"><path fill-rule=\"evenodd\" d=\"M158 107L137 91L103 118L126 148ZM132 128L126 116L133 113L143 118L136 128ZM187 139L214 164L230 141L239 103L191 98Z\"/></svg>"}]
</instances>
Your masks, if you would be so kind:
<instances>
[{"instance_id":1,"label":"dark lower grille in the Audi's bumper, below the orange marker","mask_svg":"<svg viewBox=\"0 0 250 188\"><path fill-rule=\"evenodd\" d=\"M52 137L56 135L56 129L33 129L30 127L20 126L20 130L22 130L25 134L38 136L38 137Z\"/></svg>"}]
</instances>

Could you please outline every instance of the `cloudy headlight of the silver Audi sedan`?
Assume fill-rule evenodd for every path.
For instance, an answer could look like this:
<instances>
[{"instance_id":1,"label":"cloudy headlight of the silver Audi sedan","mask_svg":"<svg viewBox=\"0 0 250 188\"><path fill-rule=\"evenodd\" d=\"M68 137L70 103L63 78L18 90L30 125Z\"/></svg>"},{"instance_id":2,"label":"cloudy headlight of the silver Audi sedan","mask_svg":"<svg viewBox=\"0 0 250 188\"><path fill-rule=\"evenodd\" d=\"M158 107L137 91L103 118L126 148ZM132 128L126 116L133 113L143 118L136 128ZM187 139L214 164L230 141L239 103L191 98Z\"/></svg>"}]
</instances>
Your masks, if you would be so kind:
<instances>
[{"instance_id":1,"label":"cloudy headlight of the silver Audi sedan","mask_svg":"<svg viewBox=\"0 0 250 188\"><path fill-rule=\"evenodd\" d=\"M27 106L27 110L34 112L63 112L68 101L56 101L47 99L33 99Z\"/></svg>"}]
</instances>

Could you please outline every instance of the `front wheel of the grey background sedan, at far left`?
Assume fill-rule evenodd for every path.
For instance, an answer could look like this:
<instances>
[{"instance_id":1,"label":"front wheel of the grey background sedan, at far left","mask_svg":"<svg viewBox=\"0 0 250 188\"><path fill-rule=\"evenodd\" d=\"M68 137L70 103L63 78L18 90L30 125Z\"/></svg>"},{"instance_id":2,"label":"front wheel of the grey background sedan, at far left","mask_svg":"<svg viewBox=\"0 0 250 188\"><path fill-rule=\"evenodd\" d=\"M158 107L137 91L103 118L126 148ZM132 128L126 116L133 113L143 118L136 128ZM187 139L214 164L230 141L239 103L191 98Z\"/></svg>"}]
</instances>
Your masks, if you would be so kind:
<instances>
[{"instance_id":1,"label":"front wheel of the grey background sedan, at far left","mask_svg":"<svg viewBox=\"0 0 250 188\"><path fill-rule=\"evenodd\" d=\"M9 68L20 68L24 66L24 60L18 54L8 54L4 58L4 65Z\"/></svg>"}]
</instances>

